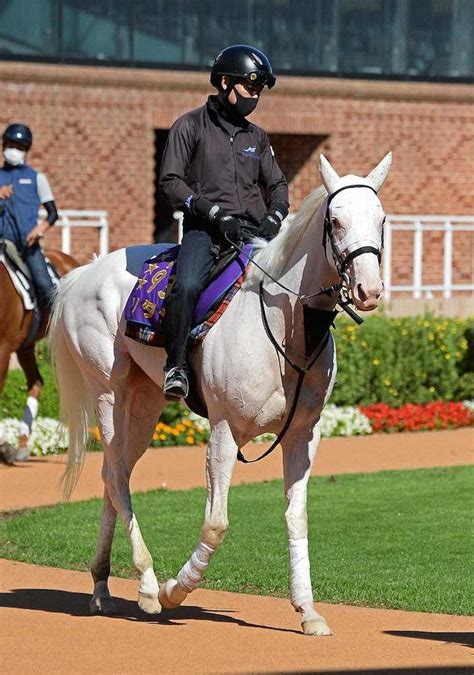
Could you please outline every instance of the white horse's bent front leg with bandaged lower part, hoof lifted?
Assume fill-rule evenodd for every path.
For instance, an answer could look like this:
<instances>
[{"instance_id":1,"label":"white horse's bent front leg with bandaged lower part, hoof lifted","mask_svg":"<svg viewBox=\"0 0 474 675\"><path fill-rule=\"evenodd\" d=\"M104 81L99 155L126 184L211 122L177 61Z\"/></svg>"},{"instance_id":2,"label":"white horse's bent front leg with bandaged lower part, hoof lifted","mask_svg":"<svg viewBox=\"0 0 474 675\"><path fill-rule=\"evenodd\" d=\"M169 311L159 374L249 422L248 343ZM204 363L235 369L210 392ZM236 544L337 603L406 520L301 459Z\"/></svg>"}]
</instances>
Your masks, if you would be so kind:
<instances>
[{"instance_id":1,"label":"white horse's bent front leg with bandaged lower part, hoof lifted","mask_svg":"<svg viewBox=\"0 0 474 675\"><path fill-rule=\"evenodd\" d=\"M207 446L207 502L201 540L177 578L168 579L160 587L160 602L167 609L180 605L200 585L214 551L225 537L229 526L227 497L236 459L237 444L227 422L220 422L213 427Z\"/></svg>"}]
</instances>

